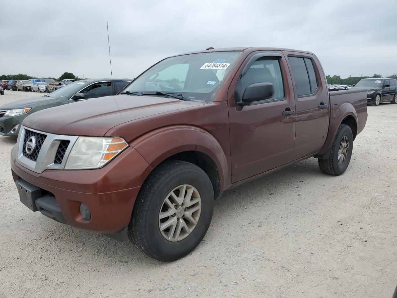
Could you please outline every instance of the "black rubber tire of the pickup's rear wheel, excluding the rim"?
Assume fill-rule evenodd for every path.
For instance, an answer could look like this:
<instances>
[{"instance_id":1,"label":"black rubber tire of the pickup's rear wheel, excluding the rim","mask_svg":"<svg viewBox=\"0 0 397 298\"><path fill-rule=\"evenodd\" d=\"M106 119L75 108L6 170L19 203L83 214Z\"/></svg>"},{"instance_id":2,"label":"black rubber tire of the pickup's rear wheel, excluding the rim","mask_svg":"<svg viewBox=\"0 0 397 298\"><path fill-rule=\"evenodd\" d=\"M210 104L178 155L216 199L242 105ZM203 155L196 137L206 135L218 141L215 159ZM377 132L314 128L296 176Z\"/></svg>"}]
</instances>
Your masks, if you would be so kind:
<instances>
[{"instance_id":1,"label":"black rubber tire of the pickup's rear wheel, excluding the rim","mask_svg":"<svg viewBox=\"0 0 397 298\"><path fill-rule=\"evenodd\" d=\"M347 150L347 156L342 164L338 162L338 151L339 145L343 137L347 137L349 148ZM323 173L330 174L333 176L339 176L345 172L349 166L351 154L353 152L353 132L350 126L341 124L336 132L335 139L331 145L330 157L328 159L318 159L318 165Z\"/></svg>"}]
</instances>

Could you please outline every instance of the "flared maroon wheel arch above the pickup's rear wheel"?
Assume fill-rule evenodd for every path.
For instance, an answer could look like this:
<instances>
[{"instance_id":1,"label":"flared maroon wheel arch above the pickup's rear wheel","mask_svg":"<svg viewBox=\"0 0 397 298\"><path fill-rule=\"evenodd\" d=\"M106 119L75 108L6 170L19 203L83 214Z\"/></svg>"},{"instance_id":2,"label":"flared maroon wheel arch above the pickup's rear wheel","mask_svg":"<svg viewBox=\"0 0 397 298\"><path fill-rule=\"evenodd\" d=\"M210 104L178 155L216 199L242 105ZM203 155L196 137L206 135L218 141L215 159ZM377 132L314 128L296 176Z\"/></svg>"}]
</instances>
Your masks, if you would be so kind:
<instances>
[{"instance_id":1,"label":"flared maroon wheel arch above the pickup's rear wheel","mask_svg":"<svg viewBox=\"0 0 397 298\"><path fill-rule=\"evenodd\" d=\"M334 108L334 106L336 106ZM331 148L333 139L335 139L336 132L341 125L343 119L345 119L347 116L353 116L355 121L356 121L356 127L358 123L358 118L357 118L357 112L353 104L351 103L343 103L340 106L337 106L336 104L333 105L332 111L331 111L331 117L330 117L330 126L328 128L328 135L326 138L326 141L321 148L321 150L315 155L315 157L318 157L319 155L326 155L329 153L329 150ZM328 157L326 157L328 158Z\"/></svg>"}]
</instances>

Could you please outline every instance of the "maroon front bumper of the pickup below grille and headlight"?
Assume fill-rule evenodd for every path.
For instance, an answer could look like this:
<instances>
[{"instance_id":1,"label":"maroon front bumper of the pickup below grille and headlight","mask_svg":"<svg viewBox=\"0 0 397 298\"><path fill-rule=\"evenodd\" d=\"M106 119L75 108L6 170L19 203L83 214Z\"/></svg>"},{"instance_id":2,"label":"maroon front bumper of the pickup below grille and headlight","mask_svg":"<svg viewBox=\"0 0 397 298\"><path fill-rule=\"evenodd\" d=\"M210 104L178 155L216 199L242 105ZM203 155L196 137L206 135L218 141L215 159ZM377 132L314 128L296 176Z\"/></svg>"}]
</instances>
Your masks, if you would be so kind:
<instances>
[{"instance_id":1,"label":"maroon front bumper of the pickup below grille and headlight","mask_svg":"<svg viewBox=\"0 0 397 298\"><path fill-rule=\"evenodd\" d=\"M21 166L16 157L17 146L14 146L11 151L14 181L22 179L40 188L42 197L55 198L64 219L61 222L104 234L117 233L128 226L141 184L150 172L148 163L132 147L95 170L47 169L38 174ZM82 203L91 212L89 221L80 213ZM59 217L54 219L60 221Z\"/></svg>"}]
</instances>

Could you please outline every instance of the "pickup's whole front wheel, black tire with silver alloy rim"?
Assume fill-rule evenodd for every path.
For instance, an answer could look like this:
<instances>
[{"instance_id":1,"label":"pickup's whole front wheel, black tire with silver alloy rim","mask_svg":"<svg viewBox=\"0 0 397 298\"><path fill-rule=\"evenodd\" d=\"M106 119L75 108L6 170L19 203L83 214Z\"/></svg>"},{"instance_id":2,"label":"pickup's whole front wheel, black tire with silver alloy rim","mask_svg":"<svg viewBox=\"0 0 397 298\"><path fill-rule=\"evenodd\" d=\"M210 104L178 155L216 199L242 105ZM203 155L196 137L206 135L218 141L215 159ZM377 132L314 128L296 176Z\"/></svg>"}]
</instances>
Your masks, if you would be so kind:
<instances>
[{"instance_id":1,"label":"pickup's whole front wheel, black tire with silver alloy rim","mask_svg":"<svg viewBox=\"0 0 397 298\"><path fill-rule=\"evenodd\" d=\"M191 163L166 161L142 185L128 236L149 257L174 261L204 238L213 210L214 190L207 174Z\"/></svg>"}]
</instances>

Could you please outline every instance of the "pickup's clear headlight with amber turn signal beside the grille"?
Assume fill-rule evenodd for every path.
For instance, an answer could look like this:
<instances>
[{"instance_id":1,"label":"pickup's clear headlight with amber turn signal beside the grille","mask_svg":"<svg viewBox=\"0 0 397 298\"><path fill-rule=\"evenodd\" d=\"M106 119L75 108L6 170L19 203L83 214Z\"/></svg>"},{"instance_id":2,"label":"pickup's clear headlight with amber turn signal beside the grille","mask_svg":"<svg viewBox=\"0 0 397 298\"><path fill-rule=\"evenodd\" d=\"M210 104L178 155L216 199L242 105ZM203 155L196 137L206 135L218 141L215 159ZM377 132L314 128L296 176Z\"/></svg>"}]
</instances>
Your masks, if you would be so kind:
<instances>
[{"instance_id":1,"label":"pickup's clear headlight with amber turn signal beside the grille","mask_svg":"<svg viewBox=\"0 0 397 298\"><path fill-rule=\"evenodd\" d=\"M79 137L70 151L65 169L100 168L126 147L128 144L121 137Z\"/></svg>"}]
</instances>

